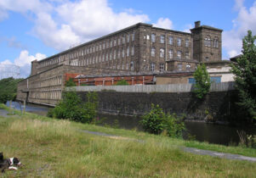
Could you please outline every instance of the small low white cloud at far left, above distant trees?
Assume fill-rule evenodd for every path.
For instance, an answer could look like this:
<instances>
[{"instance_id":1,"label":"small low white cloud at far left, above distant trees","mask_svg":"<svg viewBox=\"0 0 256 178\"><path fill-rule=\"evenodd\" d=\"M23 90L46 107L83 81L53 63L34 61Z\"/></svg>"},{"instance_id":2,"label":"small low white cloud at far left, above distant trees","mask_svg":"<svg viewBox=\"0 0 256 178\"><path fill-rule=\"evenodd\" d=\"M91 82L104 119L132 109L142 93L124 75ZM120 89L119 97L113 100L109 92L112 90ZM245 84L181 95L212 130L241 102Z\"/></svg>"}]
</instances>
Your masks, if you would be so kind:
<instances>
[{"instance_id":1,"label":"small low white cloud at far left, above distant trees","mask_svg":"<svg viewBox=\"0 0 256 178\"><path fill-rule=\"evenodd\" d=\"M20 56L14 59L12 63L9 59L4 60L0 64L15 64L20 66L20 77L26 78L31 73L31 61L37 59L41 60L47 56L42 53L36 53L35 56L29 55L28 51L23 50L20 52Z\"/></svg>"}]
</instances>

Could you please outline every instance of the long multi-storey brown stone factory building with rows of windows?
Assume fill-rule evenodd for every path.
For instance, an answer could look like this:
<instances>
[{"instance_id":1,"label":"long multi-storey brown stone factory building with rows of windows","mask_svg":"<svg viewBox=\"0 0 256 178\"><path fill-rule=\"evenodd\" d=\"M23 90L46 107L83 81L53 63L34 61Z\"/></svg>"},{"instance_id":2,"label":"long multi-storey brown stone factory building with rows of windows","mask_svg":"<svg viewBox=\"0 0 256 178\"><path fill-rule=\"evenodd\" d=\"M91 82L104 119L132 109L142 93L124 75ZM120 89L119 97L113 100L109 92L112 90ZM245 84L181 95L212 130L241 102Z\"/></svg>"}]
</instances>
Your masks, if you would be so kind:
<instances>
[{"instance_id":1,"label":"long multi-storey brown stone factory building with rows of windows","mask_svg":"<svg viewBox=\"0 0 256 178\"><path fill-rule=\"evenodd\" d=\"M54 105L65 74L162 74L194 71L196 64L221 61L222 30L195 23L191 33L139 23L31 63L17 99ZM27 95L28 93L28 95Z\"/></svg>"}]
</instances>

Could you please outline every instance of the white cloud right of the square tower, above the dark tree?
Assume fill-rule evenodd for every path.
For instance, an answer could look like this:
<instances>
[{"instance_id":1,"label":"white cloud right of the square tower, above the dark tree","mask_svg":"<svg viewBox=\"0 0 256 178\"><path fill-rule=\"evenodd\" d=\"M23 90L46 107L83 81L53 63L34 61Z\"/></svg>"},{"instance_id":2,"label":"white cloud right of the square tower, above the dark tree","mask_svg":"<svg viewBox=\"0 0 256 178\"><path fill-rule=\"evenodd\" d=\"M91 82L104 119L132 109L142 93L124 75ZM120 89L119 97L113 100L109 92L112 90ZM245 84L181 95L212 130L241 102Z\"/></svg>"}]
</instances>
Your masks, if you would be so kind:
<instances>
[{"instance_id":1,"label":"white cloud right of the square tower, above the dark tree","mask_svg":"<svg viewBox=\"0 0 256 178\"><path fill-rule=\"evenodd\" d=\"M235 8L238 10L238 16L233 20L233 29L223 32L223 47L229 57L241 53L242 38L247 35L248 30L253 31L253 35L256 34L256 2L252 7L246 8L243 6L243 0L236 0Z\"/></svg>"}]
</instances>

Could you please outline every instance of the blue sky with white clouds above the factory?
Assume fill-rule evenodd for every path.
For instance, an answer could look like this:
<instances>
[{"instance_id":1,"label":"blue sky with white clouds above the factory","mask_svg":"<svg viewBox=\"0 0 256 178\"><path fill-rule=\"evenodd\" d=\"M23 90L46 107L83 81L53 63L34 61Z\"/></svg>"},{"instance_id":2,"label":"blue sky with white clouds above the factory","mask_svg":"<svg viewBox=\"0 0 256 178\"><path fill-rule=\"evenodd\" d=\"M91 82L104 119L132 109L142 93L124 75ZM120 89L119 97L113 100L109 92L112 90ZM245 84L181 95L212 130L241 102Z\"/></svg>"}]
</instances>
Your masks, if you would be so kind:
<instances>
[{"instance_id":1,"label":"blue sky with white clouds above the factory","mask_svg":"<svg viewBox=\"0 0 256 178\"><path fill-rule=\"evenodd\" d=\"M194 22L223 30L223 59L256 35L255 0L0 0L0 65L31 72L31 61L139 22L190 32Z\"/></svg>"}]
</instances>

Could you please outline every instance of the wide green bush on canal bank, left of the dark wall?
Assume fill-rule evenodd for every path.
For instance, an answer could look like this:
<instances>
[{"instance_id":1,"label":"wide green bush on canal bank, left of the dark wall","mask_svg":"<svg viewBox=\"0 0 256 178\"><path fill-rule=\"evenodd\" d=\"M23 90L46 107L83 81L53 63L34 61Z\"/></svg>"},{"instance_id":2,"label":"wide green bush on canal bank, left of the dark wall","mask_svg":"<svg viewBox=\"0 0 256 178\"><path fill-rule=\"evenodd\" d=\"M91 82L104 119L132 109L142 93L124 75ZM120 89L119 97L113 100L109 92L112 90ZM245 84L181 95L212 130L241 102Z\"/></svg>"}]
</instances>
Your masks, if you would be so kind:
<instances>
[{"instance_id":1,"label":"wide green bush on canal bank, left of the dark wall","mask_svg":"<svg viewBox=\"0 0 256 178\"><path fill-rule=\"evenodd\" d=\"M76 92L64 92L57 106L48 112L49 117L64 120L75 120L90 123L97 114L98 95L96 92L87 93L87 102L83 103Z\"/></svg>"}]
</instances>

